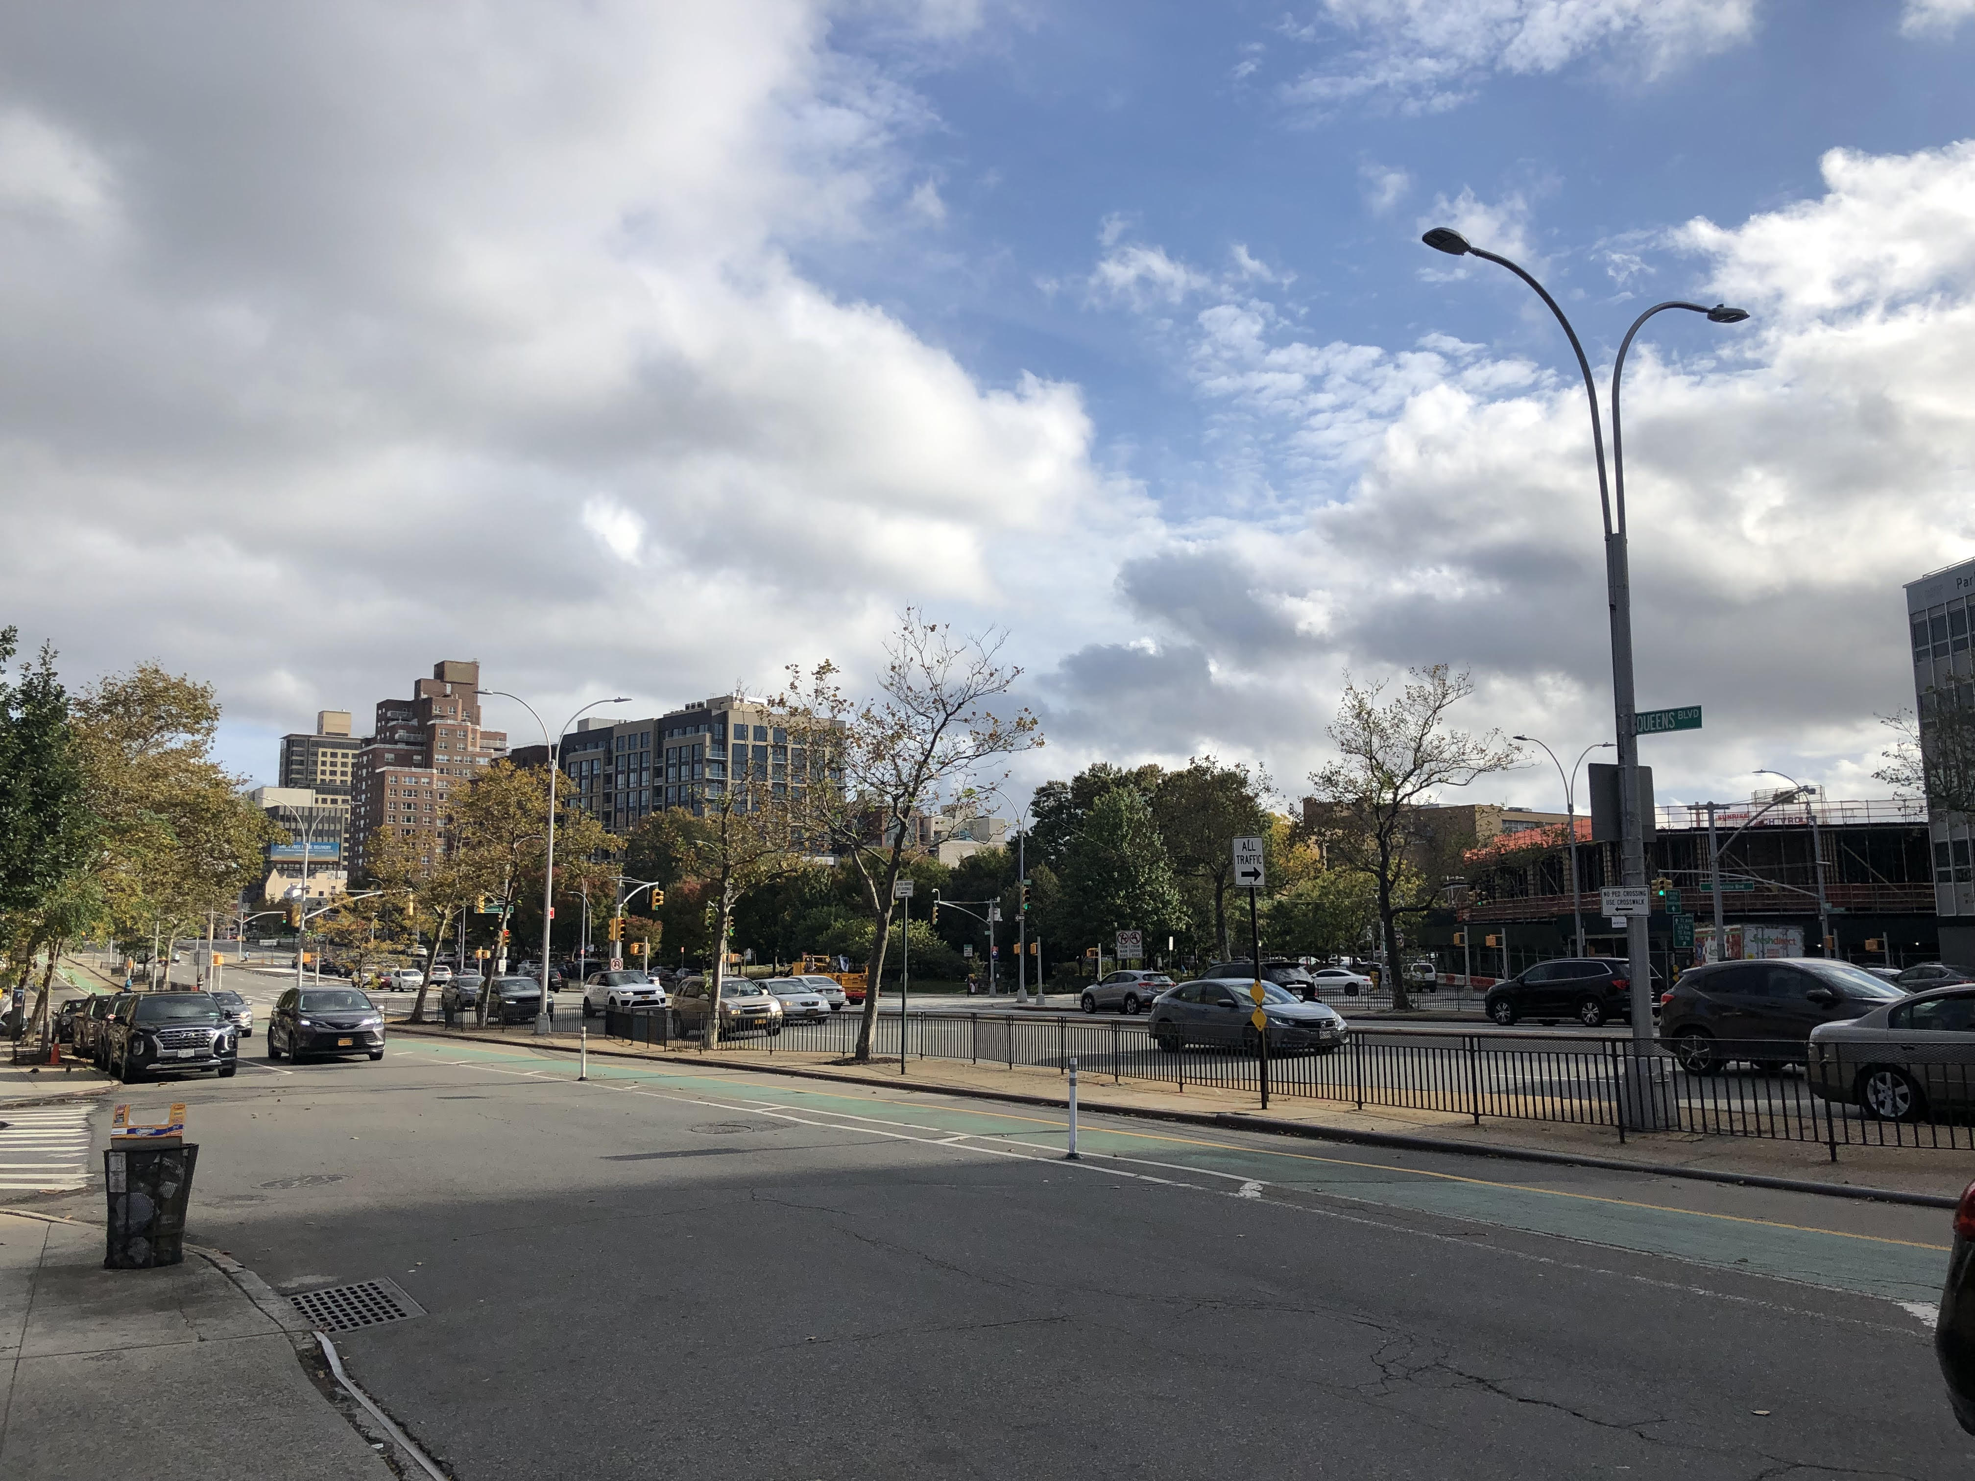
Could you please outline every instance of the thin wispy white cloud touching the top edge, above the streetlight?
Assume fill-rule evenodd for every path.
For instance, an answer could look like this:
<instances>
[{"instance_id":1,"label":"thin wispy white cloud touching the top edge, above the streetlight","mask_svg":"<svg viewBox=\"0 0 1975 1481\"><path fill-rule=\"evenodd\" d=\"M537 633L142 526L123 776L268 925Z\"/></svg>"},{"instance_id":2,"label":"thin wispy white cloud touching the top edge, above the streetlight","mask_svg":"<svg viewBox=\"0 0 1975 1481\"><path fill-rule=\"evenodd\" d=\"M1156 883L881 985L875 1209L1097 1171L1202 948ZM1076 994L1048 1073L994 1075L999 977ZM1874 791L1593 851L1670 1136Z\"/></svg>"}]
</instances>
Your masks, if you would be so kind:
<instances>
[{"instance_id":1,"label":"thin wispy white cloud touching the top edge, above the streetlight","mask_svg":"<svg viewBox=\"0 0 1975 1481\"><path fill-rule=\"evenodd\" d=\"M1284 97L1317 115L1353 101L1440 113L1489 73L1554 73L1621 49L1653 79L1754 30L1756 0L1319 0L1292 36L1335 59Z\"/></svg>"}]
</instances>

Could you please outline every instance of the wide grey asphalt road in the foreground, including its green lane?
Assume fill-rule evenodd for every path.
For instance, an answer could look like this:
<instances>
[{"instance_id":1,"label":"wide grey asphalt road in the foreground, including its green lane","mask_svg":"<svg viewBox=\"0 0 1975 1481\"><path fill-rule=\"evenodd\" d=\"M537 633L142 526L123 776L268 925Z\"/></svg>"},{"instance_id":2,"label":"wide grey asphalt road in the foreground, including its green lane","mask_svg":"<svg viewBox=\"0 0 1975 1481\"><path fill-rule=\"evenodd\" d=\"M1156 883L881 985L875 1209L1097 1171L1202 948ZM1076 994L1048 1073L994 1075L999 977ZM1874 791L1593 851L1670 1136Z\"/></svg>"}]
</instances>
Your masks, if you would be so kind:
<instances>
[{"instance_id":1,"label":"wide grey asphalt road in the foreground, including its green lane","mask_svg":"<svg viewBox=\"0 0 1975 1481\"><path fill-rule=\"evenodd\" d=\"M190 1102L192 1238L427 1307L340 1343L462 1481L1975 1463L1934 1210L591 1068L399 1037L130 1100Z\"/></svg>"}]
</instances>

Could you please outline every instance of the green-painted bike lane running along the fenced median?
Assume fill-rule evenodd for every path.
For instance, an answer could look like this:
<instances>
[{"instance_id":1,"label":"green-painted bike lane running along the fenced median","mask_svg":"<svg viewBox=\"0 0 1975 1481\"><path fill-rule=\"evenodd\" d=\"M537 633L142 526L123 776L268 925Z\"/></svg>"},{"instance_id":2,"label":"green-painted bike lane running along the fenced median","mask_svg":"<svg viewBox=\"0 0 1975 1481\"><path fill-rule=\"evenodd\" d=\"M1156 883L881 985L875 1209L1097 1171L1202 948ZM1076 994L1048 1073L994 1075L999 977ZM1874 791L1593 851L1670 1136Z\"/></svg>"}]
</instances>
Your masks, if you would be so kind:
<instances>
[{"instance_id":1,"label":"green-painted bike lane running along the fenced median","mask_svg":"<svg viewBox=\"0 0 1975 1481\"><path fill-rule=\"evenodd\" d=\"M523 1045L419 1041L399 1052L498 1074L571 1082L577 1060ZM695 1070L594 1056L600 1094L650 1094L745 1110L847 1137L914 1141L944 1155L1047 1159L1061 1165L1066 1116L938 1092L831 1086L747 1070ZM1217 1131L1120 1116L1082 1116L1074 1167L1217 1195L1290 1203L1317 1214L1402 1210L1663 1256L1738 1276L1772 1276L1896 1301L1932 1313L1947 1264L1947 1214L1720 1185L1580 1171L1497 1173L1483 1157L1323 1147L1264 1133ZM1702 1207L1695 1207L1702 1205Z\"/></svg>"}]
</instances>

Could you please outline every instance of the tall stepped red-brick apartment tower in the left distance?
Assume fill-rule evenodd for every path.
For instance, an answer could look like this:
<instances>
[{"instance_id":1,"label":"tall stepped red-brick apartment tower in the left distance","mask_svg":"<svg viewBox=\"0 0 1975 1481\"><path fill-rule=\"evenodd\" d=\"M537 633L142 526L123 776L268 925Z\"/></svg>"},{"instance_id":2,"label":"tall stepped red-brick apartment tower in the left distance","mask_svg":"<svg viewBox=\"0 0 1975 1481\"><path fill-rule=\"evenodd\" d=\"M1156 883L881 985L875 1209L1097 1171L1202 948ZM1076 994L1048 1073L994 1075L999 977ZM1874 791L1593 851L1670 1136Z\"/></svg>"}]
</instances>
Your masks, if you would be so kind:
<instances>
[{"instance_id":1,"label":"tall stepped red-brick apartment tower in the left distance","mask_svg":"<svg viewBox=\"0 0 1975 1481\"><path fill-rule=\"evenodd\" d=\"M444 855L452 794L508 754L508 733L480 727L480 663L444 660L411 699L377 701L375 733L357 748L350 782L350 869L361 873L381 829Z\"/></svg>"}]
</instances>

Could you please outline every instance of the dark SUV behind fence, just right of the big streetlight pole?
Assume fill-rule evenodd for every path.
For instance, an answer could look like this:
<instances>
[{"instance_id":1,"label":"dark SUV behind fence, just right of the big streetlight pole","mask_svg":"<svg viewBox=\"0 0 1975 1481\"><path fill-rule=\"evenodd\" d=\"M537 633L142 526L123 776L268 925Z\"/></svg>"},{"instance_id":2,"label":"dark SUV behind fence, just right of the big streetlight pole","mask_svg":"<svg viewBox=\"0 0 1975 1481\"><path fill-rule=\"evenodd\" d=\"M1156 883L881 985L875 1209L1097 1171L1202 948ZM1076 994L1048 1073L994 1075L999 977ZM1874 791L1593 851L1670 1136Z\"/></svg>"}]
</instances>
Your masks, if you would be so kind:
<instances>
[{"instance_id":1,"label":"dark SUV behind fence, just right of the big streetlight pole","mask_svg":"<svg viewBox=\"0 0 1975 1481\"><path fill-rule=\"evenodd\" d=\"M1693 1074L1730 1060L1760 1070L1803 1064L1811 1031L1906 997L1851 962L1797 956L1689 968L1659 999L1659 1041Z\"/></svg>"}]
</instances>

